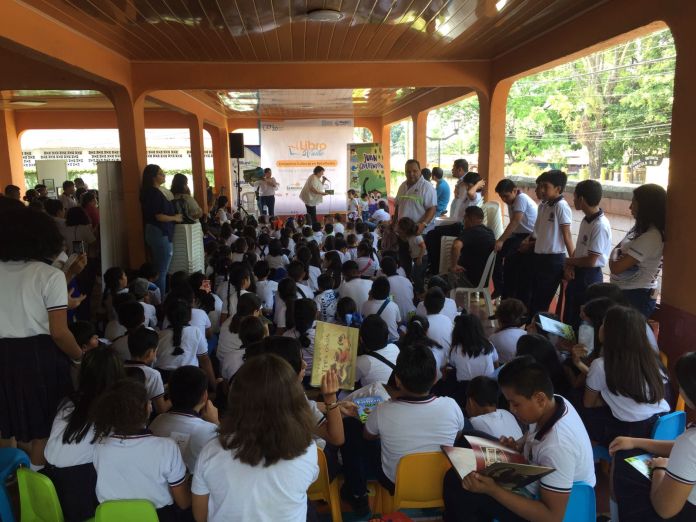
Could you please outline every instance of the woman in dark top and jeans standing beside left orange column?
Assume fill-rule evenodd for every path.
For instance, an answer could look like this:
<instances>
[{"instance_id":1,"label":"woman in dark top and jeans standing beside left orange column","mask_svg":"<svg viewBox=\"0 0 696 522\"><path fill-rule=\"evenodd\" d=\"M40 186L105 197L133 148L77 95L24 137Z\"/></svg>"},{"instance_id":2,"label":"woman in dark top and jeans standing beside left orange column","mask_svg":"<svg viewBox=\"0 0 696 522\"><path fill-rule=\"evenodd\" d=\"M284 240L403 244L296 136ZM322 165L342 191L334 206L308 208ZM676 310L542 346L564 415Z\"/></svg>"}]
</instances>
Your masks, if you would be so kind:
<instances>
[{"instance_id":1,"label":"woman in dark top and jeans standing beside left orange column","mask_svg":"<svg viewBox=\"0 0 696 522\"><path fill-rule=\"evenodd\" d=\"M162 295L165 294L167 271L172 260L172 237L174 223L181 223L181 214L174 213L174 207L165 197L159 186L164 183L164 172L159 165L148 165L143 171L143 184L140 190L140 205L145 224L145 243L150 247L152 262L159 272L155 284Z\"/></svg>"}]
</instances>

